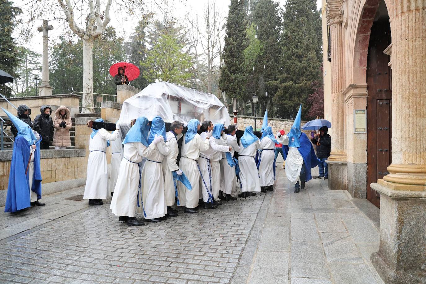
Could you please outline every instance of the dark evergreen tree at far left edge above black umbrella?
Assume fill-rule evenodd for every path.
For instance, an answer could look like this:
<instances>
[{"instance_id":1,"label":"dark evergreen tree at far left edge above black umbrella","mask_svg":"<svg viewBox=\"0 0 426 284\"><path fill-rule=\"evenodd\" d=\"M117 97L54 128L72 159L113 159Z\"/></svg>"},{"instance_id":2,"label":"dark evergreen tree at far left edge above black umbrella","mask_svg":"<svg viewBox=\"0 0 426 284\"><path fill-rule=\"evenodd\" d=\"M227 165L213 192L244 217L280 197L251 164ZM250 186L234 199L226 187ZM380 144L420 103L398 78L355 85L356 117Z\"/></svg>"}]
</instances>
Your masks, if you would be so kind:
<instances>
[{"instance_id":1,"label":"dark evergreen tree at far left edge above black umbrella","mask_svg":"<svg viewBox=\"0 0 426 284\"><path fill-rule=\"evenodd\" d=\"M0 69L16 77L14 68L19 63L19 54L12 32L17 25L16 17L22 13L19 7L12 6L8 0L0 0ZM0 84L0 93L9 97L11 89L9 86Z\"/></svg>"}]
</instances>

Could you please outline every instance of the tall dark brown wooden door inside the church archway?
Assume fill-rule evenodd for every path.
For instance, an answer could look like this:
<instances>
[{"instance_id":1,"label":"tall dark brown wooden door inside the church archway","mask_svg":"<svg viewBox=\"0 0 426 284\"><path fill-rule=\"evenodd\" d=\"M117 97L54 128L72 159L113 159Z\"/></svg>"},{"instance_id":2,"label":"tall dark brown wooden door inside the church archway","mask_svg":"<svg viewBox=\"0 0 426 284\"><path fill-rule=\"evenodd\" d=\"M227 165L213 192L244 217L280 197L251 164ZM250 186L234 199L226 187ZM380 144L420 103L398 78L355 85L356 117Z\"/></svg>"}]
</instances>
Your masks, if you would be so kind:
<instances>
[{"instance_id":1,"label":"tall dark brown wooden door inside the church archway","mask_svg":"<svg viewBox=\"0 0 426 284\"><path fill-rule=\"evenodd\" d=\"M368 45L367 56L367 199L380 206L379 193L370 184L389 174L391 164L391 68L383 53L391 44L391 27L384 0L380 3Z\"/></svg>"}]
</instances>

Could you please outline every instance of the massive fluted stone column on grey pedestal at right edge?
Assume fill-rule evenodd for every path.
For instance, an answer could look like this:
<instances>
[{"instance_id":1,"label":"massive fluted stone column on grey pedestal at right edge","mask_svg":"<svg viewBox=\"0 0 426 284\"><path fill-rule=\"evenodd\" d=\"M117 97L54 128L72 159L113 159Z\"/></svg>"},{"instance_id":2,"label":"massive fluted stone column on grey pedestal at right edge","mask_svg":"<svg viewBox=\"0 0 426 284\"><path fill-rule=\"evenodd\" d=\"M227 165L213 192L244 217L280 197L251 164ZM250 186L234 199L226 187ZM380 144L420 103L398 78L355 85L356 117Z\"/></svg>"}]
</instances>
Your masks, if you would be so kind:
<instances>
[{"instance_id":1,"label":"massive fluted stone column on grey pedestal at right edge","mask_svg":"<svg viewBox=\"0 0 426 284\"><path fill-rule=\"evenodd\" d=\"M392 164L371 184L380 192L380 249L371 262L385 283L426 283L426 2L395 2Z\"/></svg>"}]
</instances>

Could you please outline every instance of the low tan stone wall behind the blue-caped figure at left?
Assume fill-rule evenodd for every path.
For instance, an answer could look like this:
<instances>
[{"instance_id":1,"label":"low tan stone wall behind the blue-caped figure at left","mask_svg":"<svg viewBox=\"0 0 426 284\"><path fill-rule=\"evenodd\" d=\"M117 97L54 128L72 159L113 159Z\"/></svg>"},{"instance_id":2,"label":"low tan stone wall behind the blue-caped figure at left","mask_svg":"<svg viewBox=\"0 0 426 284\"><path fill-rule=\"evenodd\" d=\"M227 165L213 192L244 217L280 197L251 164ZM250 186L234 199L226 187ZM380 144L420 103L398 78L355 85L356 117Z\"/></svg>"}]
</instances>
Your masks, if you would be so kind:
<instances>
[{"instance_id":1,"label":"low tan stone wall behind the blue-caped figure at left","mask_svg":"<svg viewBox=\"0 0 426 284\"><path fill-rule=\"evenodd\" d=\"M6 202L12 150L0 151L0 207ZM84 149L41 150L42 194L51 194L86 182Z\"/></svg>"}]
</instances>

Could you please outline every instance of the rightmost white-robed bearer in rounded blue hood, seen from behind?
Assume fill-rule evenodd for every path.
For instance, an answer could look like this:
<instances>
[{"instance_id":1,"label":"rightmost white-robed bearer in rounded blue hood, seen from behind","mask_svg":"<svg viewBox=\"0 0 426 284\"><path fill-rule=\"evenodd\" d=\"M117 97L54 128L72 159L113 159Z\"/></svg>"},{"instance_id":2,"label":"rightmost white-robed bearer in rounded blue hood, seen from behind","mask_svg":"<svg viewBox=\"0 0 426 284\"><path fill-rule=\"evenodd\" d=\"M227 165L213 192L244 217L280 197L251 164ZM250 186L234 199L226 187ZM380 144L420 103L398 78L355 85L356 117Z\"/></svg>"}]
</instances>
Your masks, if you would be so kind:
<instances>
[{"instance_id":1,"label":"rightmost white-robed bearer in rounded blue hood, seen from behind","mask_svg":"<svg viewBox=\"0 0 426 284\"><path fill-rule=\"evenodd\" d=\"M259 163L259 181L260 190L262 192L273 190L273 181L275 179L275 143L277 143L277 141L275 137L273 137L271 126L266 126L263 129L262 138L260 138L262 155Z\"/></svg>"}]
</instances>

